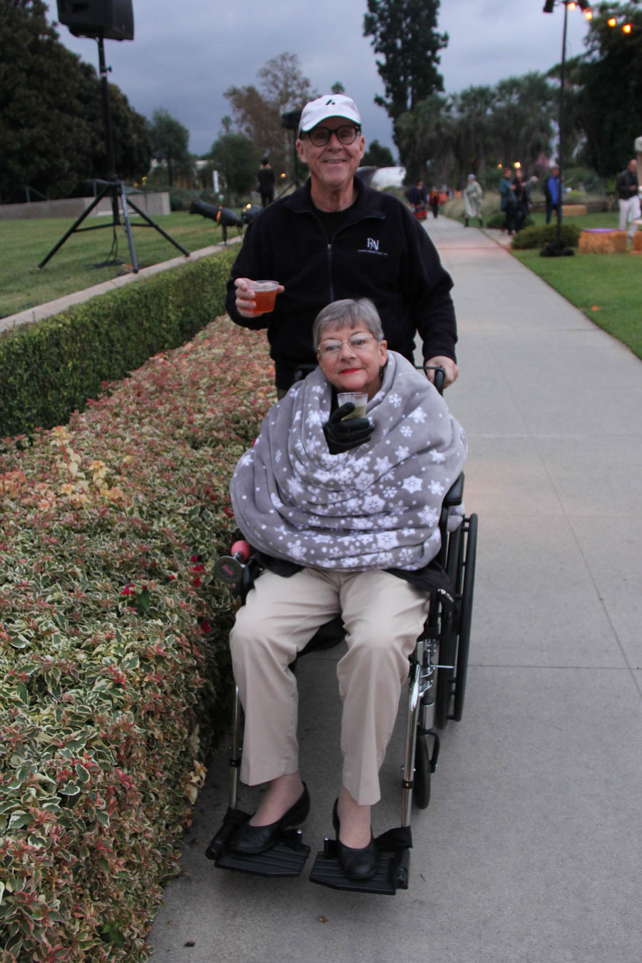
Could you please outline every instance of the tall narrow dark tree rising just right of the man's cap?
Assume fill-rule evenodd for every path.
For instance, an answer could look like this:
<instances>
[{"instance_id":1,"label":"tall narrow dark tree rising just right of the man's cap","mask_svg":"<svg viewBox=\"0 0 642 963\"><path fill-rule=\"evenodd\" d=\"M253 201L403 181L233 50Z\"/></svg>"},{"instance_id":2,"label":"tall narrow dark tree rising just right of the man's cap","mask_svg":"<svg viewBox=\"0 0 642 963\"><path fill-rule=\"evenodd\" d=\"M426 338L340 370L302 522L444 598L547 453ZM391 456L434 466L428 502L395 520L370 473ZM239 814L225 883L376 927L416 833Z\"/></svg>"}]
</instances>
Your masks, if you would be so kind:
<instances>
[{"instance_id":1,"label":"tall narrow dark tree rising just right of the man's cap","mask_svg":"<svg viewBox=\"0 0 642 963\"><path fill-rule=\"evenodd\" d=\"M368 11L364 37L372 37L374 52L384 57L376 65L388 98L374 100L395 121L444 90L437 65L449 37L436 33L439 0L368 0Z\"/></svg>"}]
</instances>

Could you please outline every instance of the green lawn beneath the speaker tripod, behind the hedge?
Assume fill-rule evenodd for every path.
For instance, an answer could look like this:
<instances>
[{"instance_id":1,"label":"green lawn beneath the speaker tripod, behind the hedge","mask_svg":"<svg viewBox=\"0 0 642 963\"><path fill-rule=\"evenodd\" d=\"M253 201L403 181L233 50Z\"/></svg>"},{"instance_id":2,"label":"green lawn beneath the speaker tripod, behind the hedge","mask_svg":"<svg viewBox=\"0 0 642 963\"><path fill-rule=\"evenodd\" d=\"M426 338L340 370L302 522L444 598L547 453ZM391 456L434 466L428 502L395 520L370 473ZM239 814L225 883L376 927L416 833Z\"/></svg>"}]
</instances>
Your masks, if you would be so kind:
<instances>
[{"instance_id":1,"label":"green lawn beneath the speaker tripod, behind the hedge","mask_svg":"<svg viewBox=\"0 0 642 963\"><path fill-rule=\"evenodd\" d=\"M222 240L218 224L198 214L178 211L153 220L189 251L218 244ZM83 226L96 221L99 219L88 218ZM136 222L142 221L138 217L132 220L139 268L182 256L181 251L158 231L147 226L136 227ZM57 218L0 221L0 249L3 252L0 259L0 317L6 318L28 307L82 291L129 270L127 265L131 258L123 227L116 229L116 238L117 256L125 264L120 267L92 267L114 258L110 253L114 235L111 225L99 230L75 232L40 270L40 261L55 247L72 223L71 219ZM228 238L236 237L237 233L236 227L228 228Z\"/></svg>"}]
</instances>

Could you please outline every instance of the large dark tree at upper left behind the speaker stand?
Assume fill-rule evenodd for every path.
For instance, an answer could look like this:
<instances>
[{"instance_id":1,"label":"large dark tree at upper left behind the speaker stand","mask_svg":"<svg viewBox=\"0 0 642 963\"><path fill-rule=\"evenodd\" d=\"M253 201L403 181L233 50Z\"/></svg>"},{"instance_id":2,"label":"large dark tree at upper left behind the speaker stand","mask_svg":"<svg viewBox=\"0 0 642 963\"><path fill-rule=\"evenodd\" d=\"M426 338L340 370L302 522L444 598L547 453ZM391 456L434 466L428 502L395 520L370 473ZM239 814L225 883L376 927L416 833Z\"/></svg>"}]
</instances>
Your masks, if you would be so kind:
<instances>
[{"instance_id":1,"label":"large dark tree at upper left behind the speaker stand","mask_svg":"<svg viewBox=\"0 0 642 963\"><path fill-rule=\"evenodd\" d=\"M105 177L100 81L47 24L42 0L0 5L0 196L25 199L25 187L51 197L87 193ZM144 117L110 85L116 169L139 177L149 169Z\"/></svg>"}]
</instances>

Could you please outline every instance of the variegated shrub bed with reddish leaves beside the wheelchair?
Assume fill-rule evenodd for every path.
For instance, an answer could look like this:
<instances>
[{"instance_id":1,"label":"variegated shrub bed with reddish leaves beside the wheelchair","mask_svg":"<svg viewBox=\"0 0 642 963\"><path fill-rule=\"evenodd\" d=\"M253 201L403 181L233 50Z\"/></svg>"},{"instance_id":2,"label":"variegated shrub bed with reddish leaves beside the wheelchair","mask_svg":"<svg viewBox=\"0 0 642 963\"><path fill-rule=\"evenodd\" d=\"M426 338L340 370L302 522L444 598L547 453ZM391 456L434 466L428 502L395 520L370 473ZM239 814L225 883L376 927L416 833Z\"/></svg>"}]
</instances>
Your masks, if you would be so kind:
<instances>
[{"instance_id":1,"label":"variegated shrub bed with reddish leaves beside the wheelchair","mask_svg":"<svg viewBox=\"0 0 642 963\"><path fill-rule=\"evenodd\" d=\"M145 960L224 708L228 483L273 400L227 319L0 456L0 961ZM233 403L230 403L233 399Z\"/></svg>"}]
</instances>

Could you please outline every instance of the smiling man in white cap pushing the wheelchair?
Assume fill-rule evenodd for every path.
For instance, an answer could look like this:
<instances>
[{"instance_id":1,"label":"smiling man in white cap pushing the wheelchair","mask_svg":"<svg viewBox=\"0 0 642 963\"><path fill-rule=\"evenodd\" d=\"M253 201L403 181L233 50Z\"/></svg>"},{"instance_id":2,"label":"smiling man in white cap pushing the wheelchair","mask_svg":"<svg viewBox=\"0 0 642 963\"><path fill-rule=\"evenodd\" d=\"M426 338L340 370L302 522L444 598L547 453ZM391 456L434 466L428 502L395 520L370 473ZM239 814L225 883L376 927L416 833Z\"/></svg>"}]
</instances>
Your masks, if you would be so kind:
<instances>
[{"instance_id":1,"label":"smiling man in white cap pushing the wheelchair","mask_svg":"<svg viewBox=\"0 0 642 963\"><path fill-rule=\"evenodd\" d=\"M330 301L370 298L388 348L412 359L417 332L428 364L457 377L452 281L421 224L397 197L358 177L364 154L361 116L344 94L305 105L296 139L310 177L248 225L227 290L237 325L267 327L276 387L283 397L301 364L314 365L314 319ZM281 285L270 314L253 313L248 279Z\"/></svg>"}]
</instances>

